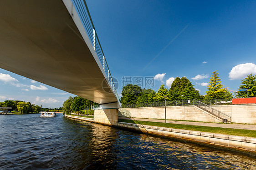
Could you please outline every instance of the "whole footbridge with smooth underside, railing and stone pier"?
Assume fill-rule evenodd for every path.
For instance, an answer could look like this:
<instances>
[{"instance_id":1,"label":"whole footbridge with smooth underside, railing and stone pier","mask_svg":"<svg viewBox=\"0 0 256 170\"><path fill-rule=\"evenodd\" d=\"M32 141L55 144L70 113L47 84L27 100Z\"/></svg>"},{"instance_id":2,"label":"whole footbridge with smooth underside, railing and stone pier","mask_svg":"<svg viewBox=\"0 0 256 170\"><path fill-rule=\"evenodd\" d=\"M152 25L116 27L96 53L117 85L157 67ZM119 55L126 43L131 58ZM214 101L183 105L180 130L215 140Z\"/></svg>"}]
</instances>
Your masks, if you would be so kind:
<instances>
[{"instance_id":1,"label":"whole footbridge with smooth underside, railing and stone pier","mask_svg":"<svg viewBox=\"0 0 256 170\"><path fill-rule=\"evenodd\" d=\"M0 68L101 105L115 125L119 98L84 0L0 1Z\"/></svg>"}]
</instances>

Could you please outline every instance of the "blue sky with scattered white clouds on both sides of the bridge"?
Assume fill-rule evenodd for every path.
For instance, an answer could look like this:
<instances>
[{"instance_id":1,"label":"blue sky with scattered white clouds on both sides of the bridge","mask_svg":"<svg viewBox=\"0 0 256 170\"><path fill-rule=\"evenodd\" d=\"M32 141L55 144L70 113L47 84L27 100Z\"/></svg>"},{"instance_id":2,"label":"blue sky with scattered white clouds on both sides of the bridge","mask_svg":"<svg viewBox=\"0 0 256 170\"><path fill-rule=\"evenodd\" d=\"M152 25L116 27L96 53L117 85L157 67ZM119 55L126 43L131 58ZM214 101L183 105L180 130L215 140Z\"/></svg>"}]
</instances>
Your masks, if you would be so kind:
<instances>
[{"instance_id":1,"label":"blue sky with scattered white clouds on both sides of the bridge","mask_svg":"<svg viewBox=\"0 0 256 170\"><path fill-rule=\"evenodd\" d=\"M205 95L215 70L230 90L256 75L256 1L86 2L120 96L128 83L157 91L184 76ZM0 102L59 108L69 96L75 95L0 69Z\"/></svg>"}]
</instances>

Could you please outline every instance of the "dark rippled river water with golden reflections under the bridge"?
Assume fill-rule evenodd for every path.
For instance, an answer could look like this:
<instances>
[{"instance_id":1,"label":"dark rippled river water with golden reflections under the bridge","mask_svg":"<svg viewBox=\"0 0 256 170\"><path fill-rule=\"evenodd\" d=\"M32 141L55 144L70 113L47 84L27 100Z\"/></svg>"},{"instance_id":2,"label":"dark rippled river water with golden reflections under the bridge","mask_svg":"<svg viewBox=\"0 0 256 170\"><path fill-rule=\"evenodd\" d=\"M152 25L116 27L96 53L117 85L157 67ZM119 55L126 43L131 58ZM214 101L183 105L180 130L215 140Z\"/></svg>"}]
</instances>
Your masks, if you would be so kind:
<instances>
[{"instance_id":1,"label":"dark rippled river water with golden reflections under the bridge","mask_svg":"<svg viewBox=\"0 0 256 170\"><path fill-rule=\"evenodd\" d=\"M255 170L256 157L72 120L0 115L1 170Z\"/></svg>"}]
</instances>

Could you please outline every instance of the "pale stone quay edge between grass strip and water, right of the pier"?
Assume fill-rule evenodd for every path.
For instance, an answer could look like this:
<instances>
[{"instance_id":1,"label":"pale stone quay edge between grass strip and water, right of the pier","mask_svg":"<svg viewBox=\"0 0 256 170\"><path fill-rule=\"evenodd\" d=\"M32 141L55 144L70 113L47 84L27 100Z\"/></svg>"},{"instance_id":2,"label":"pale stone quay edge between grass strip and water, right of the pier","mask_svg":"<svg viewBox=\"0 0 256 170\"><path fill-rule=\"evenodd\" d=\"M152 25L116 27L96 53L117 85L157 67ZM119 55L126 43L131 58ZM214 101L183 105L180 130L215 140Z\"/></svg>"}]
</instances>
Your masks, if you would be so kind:
<instances>
[{"instance_id":1,"label":"pale stone quay edge between grass strip and water, right of the pier","mask_svg":"<svg viewBox=\"0 0 256 170\"><path fill-rule=\"evenodd\" d=\"M210 145L256 152L256 138L251 137L172 129L158 126L137 125L125 122L118 122L118 126L125 129L141 131L146 134L163 135Z\"/></svg>"}]
</instances>

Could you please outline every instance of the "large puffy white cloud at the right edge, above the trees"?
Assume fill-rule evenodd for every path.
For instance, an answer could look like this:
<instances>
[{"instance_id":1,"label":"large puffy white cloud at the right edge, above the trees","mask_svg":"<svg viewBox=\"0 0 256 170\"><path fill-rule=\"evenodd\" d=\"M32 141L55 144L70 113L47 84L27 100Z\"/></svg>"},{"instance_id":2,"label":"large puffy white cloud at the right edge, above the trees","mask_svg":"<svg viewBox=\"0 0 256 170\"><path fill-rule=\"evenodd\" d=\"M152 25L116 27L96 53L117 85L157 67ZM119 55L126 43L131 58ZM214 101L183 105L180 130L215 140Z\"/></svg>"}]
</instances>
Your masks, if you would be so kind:
<instances>
[{"instance_id":1,"label":"large puffy white cloud at the right edge, above the trees","mask_svg":"<svg viewBox=\"0 0 256 170\"><path fill-rule=\"evenodd\" d=\"M233 67L229 72L229 79L243 79L250 74L256 74L256 65L253 63L240 64Z\"/></svg>"}]
</instances>

